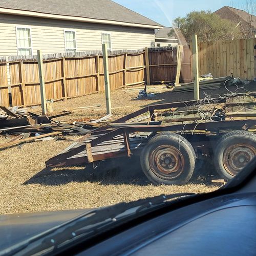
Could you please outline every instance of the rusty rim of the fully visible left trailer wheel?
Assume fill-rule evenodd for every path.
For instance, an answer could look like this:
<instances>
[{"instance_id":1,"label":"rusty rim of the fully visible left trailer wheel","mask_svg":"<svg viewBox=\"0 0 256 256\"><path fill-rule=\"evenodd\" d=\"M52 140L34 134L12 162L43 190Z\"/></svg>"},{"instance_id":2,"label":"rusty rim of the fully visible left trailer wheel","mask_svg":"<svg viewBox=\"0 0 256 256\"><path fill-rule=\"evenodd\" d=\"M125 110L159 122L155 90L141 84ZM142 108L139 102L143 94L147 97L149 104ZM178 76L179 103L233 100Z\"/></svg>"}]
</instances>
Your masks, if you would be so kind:
<instances>
[{"instance_id":1,"label":"rusty rim of the fully visible left trailer wheel","mask_svg":"<svg viewBox=\"0 0 256 256\"><path fill-rule=\"evenodd\" d=\"M162 178L177 178L184 170L184 157L172 145L160 145L149 155L150 167L155 175Z\"/></svg>"}]
</instances>

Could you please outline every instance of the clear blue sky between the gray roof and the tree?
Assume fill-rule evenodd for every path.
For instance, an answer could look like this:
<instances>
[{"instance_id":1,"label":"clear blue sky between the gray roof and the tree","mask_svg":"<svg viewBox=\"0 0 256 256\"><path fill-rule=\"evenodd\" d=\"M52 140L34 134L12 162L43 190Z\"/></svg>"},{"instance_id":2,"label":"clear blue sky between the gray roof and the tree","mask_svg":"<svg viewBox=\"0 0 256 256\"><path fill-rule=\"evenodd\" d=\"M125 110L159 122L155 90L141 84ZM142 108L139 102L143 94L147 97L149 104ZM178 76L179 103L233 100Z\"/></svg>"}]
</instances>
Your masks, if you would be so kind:
<instances>
[{"instance_id":1,"label":"clear blue sky between the gray roof and the tree","mask_svg":"<svg viewBox=\"0 0 256 256\"><path fill-rule=\"evenodd\" d=\"M114 2L136 11L164 26L172 26L173 19L185 16L190 11L211 10L216 11L231 3L245 0L113 0Z\"/></svg>"}]
</instances>

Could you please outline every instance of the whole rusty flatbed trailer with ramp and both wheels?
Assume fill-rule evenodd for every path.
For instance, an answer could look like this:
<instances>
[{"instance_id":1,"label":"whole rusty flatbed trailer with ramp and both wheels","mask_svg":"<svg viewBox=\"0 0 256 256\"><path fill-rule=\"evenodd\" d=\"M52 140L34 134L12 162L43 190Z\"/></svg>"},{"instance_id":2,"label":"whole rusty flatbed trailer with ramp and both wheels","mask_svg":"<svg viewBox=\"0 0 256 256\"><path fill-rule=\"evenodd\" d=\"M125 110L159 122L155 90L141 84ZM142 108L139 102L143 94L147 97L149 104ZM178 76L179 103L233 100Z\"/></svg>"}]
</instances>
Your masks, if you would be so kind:
<instances>
[{"instance_id":1,"label":"whole rusty flatbed trailer with ramp and both wheels","mask_svg":"<svg viewBox=\"0 0 256 256\"><path fill-rule=\"evenodd\" d=\"M224 169L220 170L219 173L223 178L229 179L241 170L242 164L239 165L239 162L237 162L239 166L232 165L230 167L231 170L228 169L227 172L225 162L228 163L231 157L235 158L236 161L247 162L256 155L256 135L254 135L254 132L256 132L256 109L254 112L253 110L248 112L248 114L241 112L243 113L242 116L238 112L236 113L236 118L232 118L230 115L227 118L227 115L224 115L216 120L196 120L192 122L185 122L183 118L180 119L182 120L180 122L175 119L175 122L171 120L169 123L157 121L155 112L184 108L184 106L186 108L192 106L197 108L201 105L210 104L224 104L224 108L227 108L227 105L229 108L238 105L243 108L249 106L252 109L256 106L254 100L249 102L242 100L242 103L240 102L239 104L235 100L230 102L230 99L239 97L241 99L245 97L254 99L255 95L256 93L236 94L214 99L146 106L141 110L91 131L57 156L49 159L46 162L46 166L82 165L110 158L131 157L138 154L141 156L141 165L144 173L154 183L184 184L194 172L196 159L213 158L216 155L215 148L220 143L222 144L223 135L231 132L231 137L236 137L234 139L240 138L244 142L241 142L242 145L241 143L235 143L235 145L238 145L238 150L241 150L240 154L230 149L232 150L232 156L225 156L225 152L222 156L218 156L223 158L223 163L219 163L218 167ZM227 99L229 101L228 104ZM148 112L150 113L150 121L142 124L129 122L129 120ZM233 131L240 131L240 133L232 134ZM249 140L244 138L248 137L248 134L251 134ZM166 138L167 143L163 142ZM226 140L232 141L232 139ZM161 141L162 146L159 141ZM250 144L249 147L247 146L248 143ZM184 154L181 153L182 148L178 148L182 146L184 147ZM228 146L230 147L230 145ZM154 159L152 160L152 158ZM191 162L190 165L187 166L187 162ZM182 175L184 169L189 169L189 175Z\"/></svg>"}]
</instances>

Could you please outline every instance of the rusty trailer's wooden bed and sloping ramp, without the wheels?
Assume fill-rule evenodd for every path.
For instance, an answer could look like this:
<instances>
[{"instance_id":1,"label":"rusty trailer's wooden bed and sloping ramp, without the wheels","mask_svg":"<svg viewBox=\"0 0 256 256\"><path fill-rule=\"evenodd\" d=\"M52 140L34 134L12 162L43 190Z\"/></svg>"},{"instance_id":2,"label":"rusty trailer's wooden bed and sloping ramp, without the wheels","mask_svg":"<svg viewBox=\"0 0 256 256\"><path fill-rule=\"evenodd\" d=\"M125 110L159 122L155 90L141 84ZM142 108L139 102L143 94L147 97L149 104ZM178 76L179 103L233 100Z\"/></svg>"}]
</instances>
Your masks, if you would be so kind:
<instances>
[{"instance_id":1,"label":"rusty trailer's wooden bed and sloping ramp, without the wheels","mask_svg":"<svg viewBox=\"0 0 256 256\"><path fill-rule=\"evenodd\" d=\"M244 94L240 94L243 96ZM256 93L246 94L245 98L233 100L234 96L229 98L215 98L199 101L174 102L167 104L157 104L147 106L139 111L124 116L105 126L99 127L90 134L83 136L77 142L71 144L57 156L49 159L46 165L68 166L91 163L94 161L108 158L128 156L136 154L146 145L148 139L153 137L157 132L174 132L177 134L203 134L206 136L220 135L232 130L243 130L255 132L256 130L256 103L254 96ZM238 97L236 95L236 97ZM214 103L214 104L213 104ZM212 116L209 112L209 105L212 105L212 113L216 113L221 105L223 115ZM206 106L205 109L202 108ZM184 106L187 108L184 116ZM200 109L200 115L191 114L191 106ZM237 108L240 108L237 110ZM208 109L207 109L208 108ZM155 124L155 112L158 110L172 110L182 115L176 118L174 114L167 116L166 123ZM205 111L206 110L206 111ZM237 111L234 113L234 111ZM247 112L246 112L247 111ZM138 117L141 114L150 112L151 121L143 125L140 123L126 123L126 121ZM191 112L191 113L190 113ZM170 111L170 113L174 113ZM182 114L181 114L182 113ZM206 114L205 114L206 113ZM210 119L200 119L206 118ZM215 117L214 120L211 117ZM217 119L216 119L217 118ZM120 124L120 125L119 125Z\"/></svg>"}]
</instances>

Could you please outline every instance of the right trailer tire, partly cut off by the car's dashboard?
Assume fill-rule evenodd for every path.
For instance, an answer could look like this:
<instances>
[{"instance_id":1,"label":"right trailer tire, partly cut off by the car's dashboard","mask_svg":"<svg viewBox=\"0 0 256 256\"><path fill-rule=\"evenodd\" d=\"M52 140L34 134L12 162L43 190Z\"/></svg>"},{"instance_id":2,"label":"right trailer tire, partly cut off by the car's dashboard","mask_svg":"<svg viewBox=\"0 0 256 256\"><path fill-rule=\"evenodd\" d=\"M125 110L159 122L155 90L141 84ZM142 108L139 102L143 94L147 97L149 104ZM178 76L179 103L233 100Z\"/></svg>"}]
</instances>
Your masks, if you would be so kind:
<instances>
[{"instance_id":1,"label":"right trailer tire, partly cut off by the car's dashboard","mask_svg":"<svg viewBox=\"0 0 256 256\"><path fill-rule=\"evenodd\" d=\"M246 131L226 133L214 151L214 164L226 181L236 176L256 156L256 135Z\"/></svg>"}]
</instances>

